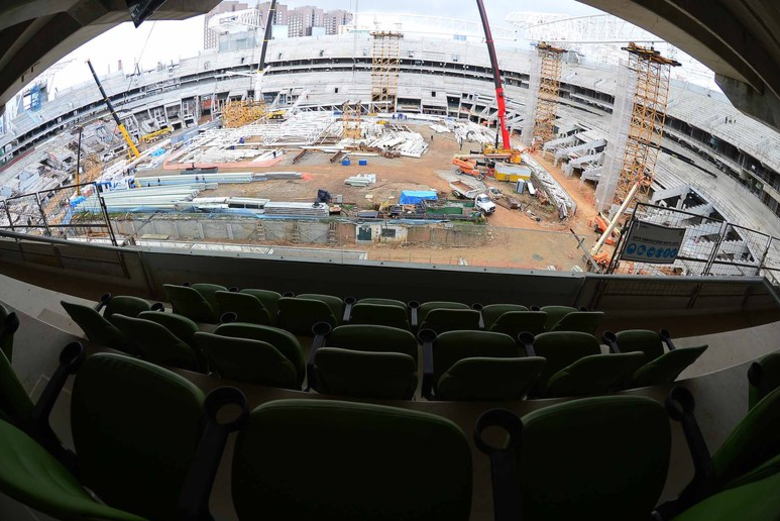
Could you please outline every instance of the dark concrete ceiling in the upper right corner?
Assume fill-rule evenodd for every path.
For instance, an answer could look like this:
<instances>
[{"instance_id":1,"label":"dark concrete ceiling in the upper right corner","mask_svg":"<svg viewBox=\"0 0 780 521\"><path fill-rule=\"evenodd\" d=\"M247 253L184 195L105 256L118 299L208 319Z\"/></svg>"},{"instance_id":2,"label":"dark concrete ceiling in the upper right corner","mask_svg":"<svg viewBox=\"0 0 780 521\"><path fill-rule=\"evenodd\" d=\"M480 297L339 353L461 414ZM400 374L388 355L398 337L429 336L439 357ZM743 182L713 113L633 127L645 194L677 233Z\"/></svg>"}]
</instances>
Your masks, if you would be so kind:
<instances>
[{"instance_id":1,"label":"dark concrete ceiling in the upper right corner","mask_svg":"<svg viewBox=\"0 0 780 521\"><path fill-rule=\"evenodd\" d=\"M715 72L735 107L780 130L777 0L578 0L647 29Z\"/></svg>"}]
</instances>

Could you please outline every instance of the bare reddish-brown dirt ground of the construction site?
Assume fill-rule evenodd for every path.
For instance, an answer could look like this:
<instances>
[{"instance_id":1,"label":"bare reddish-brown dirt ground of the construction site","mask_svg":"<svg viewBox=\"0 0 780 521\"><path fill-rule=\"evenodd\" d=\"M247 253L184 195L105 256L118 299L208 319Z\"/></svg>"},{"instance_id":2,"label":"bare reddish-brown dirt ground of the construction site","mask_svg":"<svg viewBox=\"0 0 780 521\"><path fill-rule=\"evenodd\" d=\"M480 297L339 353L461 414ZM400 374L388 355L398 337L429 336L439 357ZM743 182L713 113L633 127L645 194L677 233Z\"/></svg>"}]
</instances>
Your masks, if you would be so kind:
<instances>
[{"instance_id":1,"label":"bare reddish-brown dirt ground of the construction site","mask_svg":"<svg viewBox=\"0 0 780 521\"><path fill-rule=\"evenodd\" d=\"M397 202L402 190L434 189L448 194L448 182L436 172L455 171L452 157L459 152L452 134L434 134L424 125L409 125L413 130L425 136L430 148L422 158L360 157L351 156L352 164L342 166L331 163L332 154L309 151L297 163L292 164L299 150L290 150L284 159L273 167L255 167L254 172L300 172L301 179L272 180L249 184L222 184L217 190L209 191L206 197L258 197L274 201L313 201L318 189L324 189L333 196L342 195L344 204L359 209L375 209L383 201ZM464 143L463 150L477 149L476 143ZM528 192L515 194L509 183L490 178L485 182L521 202L521 210L509 210L498 206L496 212L488 217L492 239L488 245L480 248L436 248L391 246L376 244L369 247L358 246L370 251L370 258L377 260L399 260L411 262L431 262L458 264L467 263L478 266L523 267L570 270L573 265L584 267L582 252L577 240L571 234L573 230L586 237L586 244L592 245L598 236L593 231L592 222L596 215L595 190L590 183L580 184L577 177L568 178L560 168L540 154L534 154L542 164L566 189L577 203L577 214L565 221L558 218L552 206L542 206ZM366 159L368 165L358 166L359 159ZM222 169L229 172L229 169ZM246 168L234 171L247 171ZM163 172L147 172L139 175L160 175ZM376 174L376 184L366 188L355 188L344 184L347 177L357 174ZM164 175L170 175L165 172ZM529 214L530 211L530 214ZM531 215L532 214L532 215ZM535 218L536 217L536 218ZM550 233L557 232L557 233Z\"/></svg>"}]
</instances>

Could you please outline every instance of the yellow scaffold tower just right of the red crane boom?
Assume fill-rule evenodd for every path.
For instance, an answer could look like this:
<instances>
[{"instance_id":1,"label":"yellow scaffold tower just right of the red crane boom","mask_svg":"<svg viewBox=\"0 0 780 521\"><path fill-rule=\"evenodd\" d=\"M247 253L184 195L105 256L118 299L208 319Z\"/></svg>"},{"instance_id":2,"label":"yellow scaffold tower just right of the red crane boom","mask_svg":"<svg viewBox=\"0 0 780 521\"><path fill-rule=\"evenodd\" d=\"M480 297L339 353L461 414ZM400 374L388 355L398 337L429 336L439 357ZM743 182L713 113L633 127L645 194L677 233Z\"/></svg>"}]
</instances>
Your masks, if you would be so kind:
<instances>
[{"instance_id":1,"label":"yellow scaffold tower just right of the red crane boom","mask_svg":"<svg viewBox=\"0 0 780 521\"><path fill-rule=\"evenodd\" d=\"M555 121L558 114L558 94L561 90L561 68L564 49L539 42L539 92L534 111L533 146L538 149L555 137Z\"/></svg>"}]
</instances>

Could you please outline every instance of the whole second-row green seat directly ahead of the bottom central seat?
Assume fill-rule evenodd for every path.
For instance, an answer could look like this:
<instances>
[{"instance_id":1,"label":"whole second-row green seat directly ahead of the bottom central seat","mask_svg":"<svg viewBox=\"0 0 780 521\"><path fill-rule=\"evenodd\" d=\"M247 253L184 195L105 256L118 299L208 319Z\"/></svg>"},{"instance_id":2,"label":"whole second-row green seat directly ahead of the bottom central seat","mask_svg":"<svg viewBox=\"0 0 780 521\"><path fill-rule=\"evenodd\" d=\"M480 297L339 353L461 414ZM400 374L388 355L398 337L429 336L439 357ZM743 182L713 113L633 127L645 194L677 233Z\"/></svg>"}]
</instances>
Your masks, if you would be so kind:
<instances>
[{"instance_id":1,"label":"whole second-row green seat directly ahead of the bottom central seat","mask_svg":"<svg viewBox=\"0 0 780 521\"><path fill-rule=\"evenodd\" d=\"M309 385L317 392L399 400L414 396L418 381L414 335L381 325L326 329L315 337L309 353Z\"/></svg>"}]
</instances>

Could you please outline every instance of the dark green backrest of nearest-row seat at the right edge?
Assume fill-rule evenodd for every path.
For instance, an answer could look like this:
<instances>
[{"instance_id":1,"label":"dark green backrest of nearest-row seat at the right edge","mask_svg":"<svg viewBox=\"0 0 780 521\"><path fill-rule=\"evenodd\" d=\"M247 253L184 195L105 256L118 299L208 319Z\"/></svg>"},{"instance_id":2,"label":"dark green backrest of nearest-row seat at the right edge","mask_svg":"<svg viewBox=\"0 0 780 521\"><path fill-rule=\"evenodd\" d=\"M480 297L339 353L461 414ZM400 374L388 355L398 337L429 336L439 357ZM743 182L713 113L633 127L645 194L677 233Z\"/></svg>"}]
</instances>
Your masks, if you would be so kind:
<instances>
[{"instance_id":1,"label":"dark green backrest of nearest-row seat at the right edge","mask_svg":"<svg viewBox=\"0 0 780 521\"><path fill-rule=\"evenodd\" d=\"M780 389L748 411L712 455L722 487L780 454Z\"/></svg>"}]
</instances>

